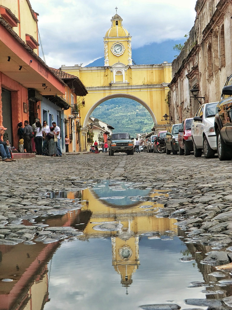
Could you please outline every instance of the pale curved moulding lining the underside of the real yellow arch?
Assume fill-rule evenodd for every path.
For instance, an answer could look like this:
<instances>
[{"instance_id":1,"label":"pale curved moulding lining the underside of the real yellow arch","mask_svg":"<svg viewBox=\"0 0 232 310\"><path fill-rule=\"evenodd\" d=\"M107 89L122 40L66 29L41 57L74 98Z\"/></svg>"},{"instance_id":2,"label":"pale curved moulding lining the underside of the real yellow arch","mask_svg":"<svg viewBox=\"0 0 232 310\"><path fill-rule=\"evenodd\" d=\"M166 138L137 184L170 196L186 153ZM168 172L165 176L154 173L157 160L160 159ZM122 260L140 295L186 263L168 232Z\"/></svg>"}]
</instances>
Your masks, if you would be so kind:
<instances>
[{"instance_id":1,"label":"pale curved moulding lining the underside of the real yellow arch","mask_svg":"<svg viewBox=\"0 0 232 310\"><path fill-rule=\"evenodd\" d=\"M138 97L135 97L133 95L129 95L129 94L123 94L123 93L119 93L119 94L112 94L112 95L108 95L106 97L103 97L101 98L100 100L98 100L95 104L92 105L92 107L89 109L88 113L86 114L86 117L84 119L84 123L83 123L83 127L86 127L87 126L87 122L88 122L88 119L92 113L92 111L97 108L97 106L99 104L101 104L102 102L106 101L106 100L109 100L109 99L112 99L112 98L118 98L118 97L122 97L122 98L129 98L129 99L132 99L132 100L135 100L137 102L139 102L140 104L142 104L147 110L148 112L151 114L151 117L153 118L153 121L154 121L154 124L157 124L157 120L156 120L156 117L155 117L155 114L154 112L152 111L152 109L148 106L148 104L146 104L142 99L138 98Z\"/></svg>"}]
</instances>

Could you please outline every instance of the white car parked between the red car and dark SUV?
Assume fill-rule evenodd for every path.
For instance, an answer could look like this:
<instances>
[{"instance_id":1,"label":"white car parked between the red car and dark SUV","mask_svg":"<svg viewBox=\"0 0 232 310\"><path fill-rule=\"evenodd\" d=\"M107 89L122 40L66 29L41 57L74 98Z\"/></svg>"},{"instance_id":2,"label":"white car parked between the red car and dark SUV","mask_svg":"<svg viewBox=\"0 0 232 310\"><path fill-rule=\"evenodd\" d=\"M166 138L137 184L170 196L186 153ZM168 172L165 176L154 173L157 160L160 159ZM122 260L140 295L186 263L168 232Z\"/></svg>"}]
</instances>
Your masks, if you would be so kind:
<instances>
[{"instance_id":1,"label":"white car parked between the red car and dark SUV","mask_svg":"<svg viewBox=\"0 0 232 310\"><path fill-rule=\"evenodd\" d=\"M192 123L192 142L195 157L200 157L202 150L205 158L213 158L217 153L214 117L218 102L205 103L198 109Z\"/></svg>"}]
</instances>

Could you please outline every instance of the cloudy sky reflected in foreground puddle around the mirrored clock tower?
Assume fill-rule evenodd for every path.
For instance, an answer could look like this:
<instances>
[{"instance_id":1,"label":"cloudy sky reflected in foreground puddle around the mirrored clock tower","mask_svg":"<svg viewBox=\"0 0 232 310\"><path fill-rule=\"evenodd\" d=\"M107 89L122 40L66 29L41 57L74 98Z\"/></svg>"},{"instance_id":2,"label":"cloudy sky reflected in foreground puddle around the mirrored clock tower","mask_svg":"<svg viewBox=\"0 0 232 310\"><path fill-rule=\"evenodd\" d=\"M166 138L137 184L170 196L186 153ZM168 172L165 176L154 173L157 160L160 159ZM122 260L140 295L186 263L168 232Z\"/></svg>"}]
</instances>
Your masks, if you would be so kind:
<instances>
[{"instance_id":1,"label":"cloudy sky reflected in foreground puddle around the mirrored clock tower","mask_svg":"<svg viewBox=\"0 0 232 310\"><path fill-rule=\"evenodd\" d=\"M204 280L193 261L179 260L186 246L178 237L162 241L143 236L139 248L140 266L132 275L126 295L121 277L112 266L110 238L63 243L52 259L50 301L44 309L132 310L167 300L189 308L184 299L205 298L203 287L187 288L192 281Z\"/></svg>"}]
</instances>

